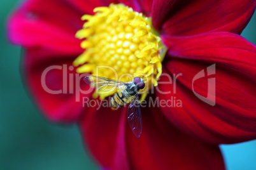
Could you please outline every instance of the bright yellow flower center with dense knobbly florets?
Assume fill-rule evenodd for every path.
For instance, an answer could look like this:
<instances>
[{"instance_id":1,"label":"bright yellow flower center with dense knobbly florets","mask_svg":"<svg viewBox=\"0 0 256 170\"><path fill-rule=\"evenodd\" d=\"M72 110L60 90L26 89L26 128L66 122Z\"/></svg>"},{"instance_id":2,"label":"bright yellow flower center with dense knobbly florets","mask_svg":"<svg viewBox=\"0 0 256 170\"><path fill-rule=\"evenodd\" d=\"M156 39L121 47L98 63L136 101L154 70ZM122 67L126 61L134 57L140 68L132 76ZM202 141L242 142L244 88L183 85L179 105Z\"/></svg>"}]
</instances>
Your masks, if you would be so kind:
<instances>
[{"instance_id":1,"label":"bright yellow flower center with dense knobbly florets","mask_svg":"<svg viewBox=\"0 0 256 170\"><path fill-rule=\"evenodd\" d=\"M153 29L151 18L123 4L98 7L94 12L82 16L87 22L76 33L76 37L85 39L81 46L86 49L73 62L78 67L76 72L119 81L122 77L125 82L129 76L123 75L144 75L149 84L157 86L166 47ZM110 95L113 93L101 98Z\"/></svg>"}]
</instances>

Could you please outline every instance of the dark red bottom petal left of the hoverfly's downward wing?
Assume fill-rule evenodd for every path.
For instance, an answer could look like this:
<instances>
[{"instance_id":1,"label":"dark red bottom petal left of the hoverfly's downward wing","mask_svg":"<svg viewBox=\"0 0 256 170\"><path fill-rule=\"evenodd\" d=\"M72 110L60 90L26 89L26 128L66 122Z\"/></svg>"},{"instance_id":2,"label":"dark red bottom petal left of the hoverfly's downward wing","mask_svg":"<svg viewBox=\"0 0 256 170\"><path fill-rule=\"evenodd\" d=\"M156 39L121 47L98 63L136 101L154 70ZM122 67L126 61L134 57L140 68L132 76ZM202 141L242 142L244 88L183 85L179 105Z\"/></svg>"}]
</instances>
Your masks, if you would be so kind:
<instances>
[{"instance_id":1,"label":"dark red bottom petal left of the hoverfly's downward wing","mask_svg":"<svg viewBox=\"0 0 256 170\"><path fill-rule=\"evenodd\" d=\"M110 104L108 100L105 101ZM103 167L113 168L124 165L124 169L128 168L124 143L126 117L122 108L113 111L102 105L90 107L83 117L80 125L83 138L94 158Z\"/></svg>"}]
</instances>

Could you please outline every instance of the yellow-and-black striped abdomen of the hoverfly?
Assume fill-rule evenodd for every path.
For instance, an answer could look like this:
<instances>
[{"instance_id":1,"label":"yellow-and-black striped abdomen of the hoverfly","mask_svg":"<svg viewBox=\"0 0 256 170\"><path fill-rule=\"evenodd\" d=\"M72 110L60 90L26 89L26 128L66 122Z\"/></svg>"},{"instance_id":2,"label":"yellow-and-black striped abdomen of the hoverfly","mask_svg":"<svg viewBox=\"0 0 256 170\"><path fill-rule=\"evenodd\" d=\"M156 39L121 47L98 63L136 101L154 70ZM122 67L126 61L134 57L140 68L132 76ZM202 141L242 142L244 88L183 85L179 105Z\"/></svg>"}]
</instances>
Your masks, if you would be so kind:
<instances>
[{"instance_id":1,"label":"yellow-and-black striped abdomen of the hoverfly","mask_svg":"<svg viewBox=\"0 0 256 170\"><path fill-rule=\"evenodd\" d=\"M115 93L110 100L111 107L115 109L122 107L128 103L130 99L131 95L129 95L126 90Z\"/></svg>"}]
</instances>

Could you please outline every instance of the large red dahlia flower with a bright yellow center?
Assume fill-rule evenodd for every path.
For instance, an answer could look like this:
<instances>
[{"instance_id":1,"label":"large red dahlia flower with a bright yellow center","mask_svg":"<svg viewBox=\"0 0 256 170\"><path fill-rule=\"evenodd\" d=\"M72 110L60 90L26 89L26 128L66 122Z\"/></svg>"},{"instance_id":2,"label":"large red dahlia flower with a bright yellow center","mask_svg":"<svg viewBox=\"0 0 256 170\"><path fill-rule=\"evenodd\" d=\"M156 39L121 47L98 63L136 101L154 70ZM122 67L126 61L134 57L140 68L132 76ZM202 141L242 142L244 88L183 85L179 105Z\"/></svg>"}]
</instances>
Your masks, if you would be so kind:
<instances>
[{"instance_id":1,"label":"large red dahlia flower with a bright yellow center","mask_svg":"<svg viewBox=\"0 0 256 170\"><path fill-rule=\"evenodd\" d=\"M39 108L51 121L77 122L104 168L225 169L218 144L256 136L256 48L238 35L255 6L248 0L28 0L11 15L8 32L25 48L25 79ZM82 99L92 93L78 95L75 87L89 86L74 82L74 74L95 74L97 65L111 66L118 75L152 75L151 84L172 93L154 91L146 101L175 97L182 107L141 108L143 134L136 138L127 125L127 108L83 107ZM213 77L204 76L206 68L216 79L214 106L208 104L212 98L205 103L197 97L207 96L205 86ZM199 72L201 79L193 84ZM176 83L162 84L168 79L159 80L161 73L180 76ZM45 91L42 75L43 85L55 94ZM106 71L99 75L113 77Z\"/></svg>"}]
</instances>

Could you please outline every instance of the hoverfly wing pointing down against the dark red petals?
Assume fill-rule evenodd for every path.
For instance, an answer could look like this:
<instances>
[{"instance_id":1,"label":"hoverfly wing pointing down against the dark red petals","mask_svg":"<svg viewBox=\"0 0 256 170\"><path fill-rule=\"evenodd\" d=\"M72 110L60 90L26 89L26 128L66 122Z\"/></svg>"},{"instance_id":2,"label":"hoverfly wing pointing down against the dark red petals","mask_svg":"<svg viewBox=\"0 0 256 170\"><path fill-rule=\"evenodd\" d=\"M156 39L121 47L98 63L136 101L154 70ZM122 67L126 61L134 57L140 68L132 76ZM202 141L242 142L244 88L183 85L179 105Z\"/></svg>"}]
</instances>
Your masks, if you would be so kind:
<instances>
[{"instance_id":1,"label":"hoverfly wing pointing down against the dark red petals","mask_svg":"<svg viewBox=\"0 0 256 170\"><path fill-rule=\"evenodd\" d=\"M134 100L131 101L131 104L128 107L127 119L132 132L137 138L139 138L142 133L142 119L138 95L134 98Z\"/></svg>"}]
</instances>

